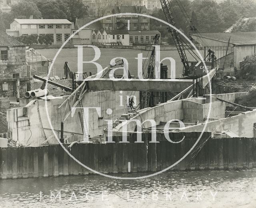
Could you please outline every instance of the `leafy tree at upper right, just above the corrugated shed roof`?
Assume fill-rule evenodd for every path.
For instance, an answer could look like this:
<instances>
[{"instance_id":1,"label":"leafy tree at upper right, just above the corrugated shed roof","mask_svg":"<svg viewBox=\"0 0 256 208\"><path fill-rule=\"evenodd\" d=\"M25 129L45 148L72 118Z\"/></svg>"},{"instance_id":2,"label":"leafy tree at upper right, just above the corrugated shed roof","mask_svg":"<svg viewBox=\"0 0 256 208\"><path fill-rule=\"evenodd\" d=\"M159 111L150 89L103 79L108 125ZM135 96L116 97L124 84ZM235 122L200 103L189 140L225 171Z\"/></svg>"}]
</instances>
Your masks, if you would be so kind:
<instances>
[{"instance_id":1,"label":"leafy tree at upper right, just above the corrugated shed roof","mask_svg":"<svg viewBox=\"0 0 256 208\"><path fill-rule=\"evenodd\" d=\"M234 24L232 32L251 32L256 31L256 18L248 20L240 19Z\"/></svg>"}]
</instances>

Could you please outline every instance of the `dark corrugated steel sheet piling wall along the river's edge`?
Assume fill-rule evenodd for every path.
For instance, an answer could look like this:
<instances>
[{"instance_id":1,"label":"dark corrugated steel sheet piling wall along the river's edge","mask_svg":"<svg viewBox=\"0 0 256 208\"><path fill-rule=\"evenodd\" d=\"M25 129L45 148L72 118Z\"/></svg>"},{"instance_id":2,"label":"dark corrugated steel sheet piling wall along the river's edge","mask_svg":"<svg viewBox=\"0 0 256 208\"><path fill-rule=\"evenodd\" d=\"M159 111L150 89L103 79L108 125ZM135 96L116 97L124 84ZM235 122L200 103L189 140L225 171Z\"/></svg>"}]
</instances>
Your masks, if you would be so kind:
<instances>
[{"instance_id":1,"label":"dark corrugated steel sheet piling wall along the river's edge","mask_svg":"<svg viewBox=\"0 0 256 208\"><path fill-rule=\"evenodd\" d=\"M100 173L156 172L178 161L196 142L198 133L175 133L170 138L181 143L166 141L158 134L160 143L76 144L70 153L81 163ZM204 133L196 148L172 171L225 170L256 167L256 138L209 138ZM150 141L143 134L142 141ZM115 137L115 141L122 138ZM204 142L206 141L206 142ZM204 145L202 145L205 143ZM64 145L68 148L67 145ZM200 148L198 149L198 147ZM199 150L199 151L196 151ZM194 159L192 159L194 158ZM87 175L92 173L74 161L60 145L43 147L0 148L0 178L54 177L58 175Z\"/></svg>"}]
</instances>

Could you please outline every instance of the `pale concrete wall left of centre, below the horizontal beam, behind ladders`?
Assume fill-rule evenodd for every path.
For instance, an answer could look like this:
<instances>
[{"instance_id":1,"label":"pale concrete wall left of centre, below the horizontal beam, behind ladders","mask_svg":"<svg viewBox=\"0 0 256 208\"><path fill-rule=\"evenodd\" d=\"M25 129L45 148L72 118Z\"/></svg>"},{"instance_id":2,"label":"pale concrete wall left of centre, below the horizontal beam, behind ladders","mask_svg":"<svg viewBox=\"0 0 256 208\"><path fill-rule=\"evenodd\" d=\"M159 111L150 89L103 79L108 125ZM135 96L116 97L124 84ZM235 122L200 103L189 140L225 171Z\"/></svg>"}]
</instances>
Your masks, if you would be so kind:
<instances>
[{"instance_id":1,"label":"pale concrete wall left of centre, below the horizontal beam, behind ladders","mask_svg":"<svg viewBox=\"0 0 256 208\"><path fill-rule=\"evenodd\" d=\"M101 92L88 92L82 102L84 107L100 107L100 113L103 117L99 120L99 115L95 109L89 110L88 129L89 135L95 136L103 133L103 128L106 126L105 120L115 120L126 111L126 96L130 96L131 92L114 92L114 91L101 91ZM120 103L120 96L122 96L123 103ZM135 96L139 100L139 93L136 92ZM35 100L30 102L26 107L13 108L7 111L8 131L12 132L13 139L20 141L24 145L41 146L46 138L52 135L52 131L42 130L43 128L50 129L50 124L46 115L46 102L52 126L55 130L60 130L60 122L65 115L65 107L59 109L58 107L64 102L68 96L57 97L52 100ZM108 115L106 110L112 109L112 114ZM78 116L78 109L73 117L68 117L64 122L64 131L82 133L82 128ZM41 118L41 119L40 119ZM41 121L41 122L40 122ZM66 134L68 135L68 134ZM75 137L74 140L77 140ZM81 137L79 138L81 139ZM50 142L55 142L52 139Z\"/></svg>"}]
</instances>

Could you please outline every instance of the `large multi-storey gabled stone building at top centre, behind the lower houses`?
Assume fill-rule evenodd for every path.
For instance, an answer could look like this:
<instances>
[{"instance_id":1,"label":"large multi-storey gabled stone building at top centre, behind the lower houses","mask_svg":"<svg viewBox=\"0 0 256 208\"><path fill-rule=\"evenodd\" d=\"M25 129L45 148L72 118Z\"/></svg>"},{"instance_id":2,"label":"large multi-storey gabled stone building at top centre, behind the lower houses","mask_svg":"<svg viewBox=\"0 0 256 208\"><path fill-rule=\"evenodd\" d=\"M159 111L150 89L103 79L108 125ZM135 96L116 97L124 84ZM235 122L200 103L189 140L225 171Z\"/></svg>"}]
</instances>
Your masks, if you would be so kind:
<instances>
[{"instance_id":1,"label":"large multi-storey gabled stone building at top centre, behind the lower houses","mask_svg":"<svg viewBox=\"0 0 256 208\"><path fill-rule=\"evenodd\" d=\"M148 10L145 6L109 6L102 16L118 13L148 14ZM128 29L128 22L130 30L150 29L150 19L142 16L120 15L101 20L103 29Z\"/></svg>"}]
</instances>

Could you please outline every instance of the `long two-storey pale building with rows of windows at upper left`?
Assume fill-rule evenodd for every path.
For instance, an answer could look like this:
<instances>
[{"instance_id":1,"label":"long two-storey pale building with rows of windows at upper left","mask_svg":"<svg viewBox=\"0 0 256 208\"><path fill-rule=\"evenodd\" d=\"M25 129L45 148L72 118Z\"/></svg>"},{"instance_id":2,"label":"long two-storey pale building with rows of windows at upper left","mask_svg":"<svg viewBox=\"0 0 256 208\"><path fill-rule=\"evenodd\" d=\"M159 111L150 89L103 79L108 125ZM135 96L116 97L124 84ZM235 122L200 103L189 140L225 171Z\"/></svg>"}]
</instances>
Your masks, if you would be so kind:
<instances>
[{"instance_id":1,"label":"long two-storey pale building with rows of windows at upper left","mask_svg":"<svg viewBox=\"0 0 256 208\"><path fill-rule=\"evenodd\" d=\"M53 44L63 44L72 34L72 22L60 19L14 19L6 33L11 36L52 34Z\"/></svg>"}]
</instances>

